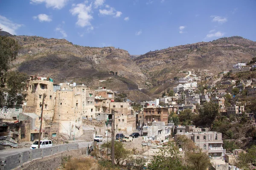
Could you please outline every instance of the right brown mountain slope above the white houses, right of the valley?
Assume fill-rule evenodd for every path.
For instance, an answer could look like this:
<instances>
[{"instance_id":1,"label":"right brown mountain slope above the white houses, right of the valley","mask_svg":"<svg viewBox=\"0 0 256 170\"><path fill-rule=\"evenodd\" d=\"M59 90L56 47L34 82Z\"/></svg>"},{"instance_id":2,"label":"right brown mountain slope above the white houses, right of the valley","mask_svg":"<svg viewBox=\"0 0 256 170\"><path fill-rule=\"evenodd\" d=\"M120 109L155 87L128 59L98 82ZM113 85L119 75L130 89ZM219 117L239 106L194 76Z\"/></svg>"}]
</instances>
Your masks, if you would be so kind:
<instances>
[{"instance_id":1,"label":"right brown mountain slope above the white houses, right of the valley","mask_svg":"<svg viewBox=\"0 0 256 170\"><path fill-rule=\"evenodd\" d=\"M150 51L133 60L148 81L162 83L177 76L179 71L208 69L218 74L230 70L237 62L248 62L253 57L256 57L256 42L235 36Z\"/></svg>"}]
</instances>

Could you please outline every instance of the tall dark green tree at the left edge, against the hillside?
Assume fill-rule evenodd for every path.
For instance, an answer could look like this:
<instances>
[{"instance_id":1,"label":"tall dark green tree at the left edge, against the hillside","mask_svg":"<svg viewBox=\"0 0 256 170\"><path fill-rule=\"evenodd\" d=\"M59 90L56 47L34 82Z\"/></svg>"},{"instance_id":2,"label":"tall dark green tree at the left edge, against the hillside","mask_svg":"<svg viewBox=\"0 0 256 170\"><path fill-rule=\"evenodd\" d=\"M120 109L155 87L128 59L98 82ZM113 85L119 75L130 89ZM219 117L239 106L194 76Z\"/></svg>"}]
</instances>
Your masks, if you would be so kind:
<instances>
[{"instance_id":1,"label":"tall dark green tree at the left edge, against the hillside","mask_svg":"<svg viewBox=\"0 0 256 170\"><path fill-rule=\"evenodd\" d=\"M24 99L26 74L10 71L20 45L11 37L0 36L0 107L20 105Z\"/></svg>"}]
</instances>

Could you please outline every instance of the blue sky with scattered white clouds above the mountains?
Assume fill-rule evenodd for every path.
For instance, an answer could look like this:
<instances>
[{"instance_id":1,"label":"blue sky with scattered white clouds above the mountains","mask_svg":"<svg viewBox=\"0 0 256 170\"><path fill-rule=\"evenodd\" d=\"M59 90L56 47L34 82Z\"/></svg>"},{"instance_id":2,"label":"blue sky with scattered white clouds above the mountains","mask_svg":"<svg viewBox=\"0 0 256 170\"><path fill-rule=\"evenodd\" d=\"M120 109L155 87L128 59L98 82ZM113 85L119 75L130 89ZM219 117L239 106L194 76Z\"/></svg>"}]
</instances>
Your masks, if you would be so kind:
<instances>
[{"instance_id":1,"label":"blue sky with scattered white clouds above the mountains","mask_svg":"<svg viewBox=\"0 0 256 170\"><path fill-rule=\"evenodd\" d=\"M0 0L0 27L145 54L236 35L256 41L256 0Z\"/></svg>"}]
</instances>

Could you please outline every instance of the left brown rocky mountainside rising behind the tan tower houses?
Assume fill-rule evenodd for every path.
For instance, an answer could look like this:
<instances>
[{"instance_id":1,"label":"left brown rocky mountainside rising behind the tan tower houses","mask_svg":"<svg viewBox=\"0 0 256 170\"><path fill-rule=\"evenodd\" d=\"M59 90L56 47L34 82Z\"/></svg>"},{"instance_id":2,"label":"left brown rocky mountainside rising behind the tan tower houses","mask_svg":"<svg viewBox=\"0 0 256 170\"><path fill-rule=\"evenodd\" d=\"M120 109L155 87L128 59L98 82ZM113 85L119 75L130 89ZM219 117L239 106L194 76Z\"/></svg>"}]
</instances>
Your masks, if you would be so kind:
<instances>
[{"instance_id":1,"label":"left brown rocky mountainside rising behind the tan tower houses","mask_svg":"<svg viewBox=\"0 0 256 170\"><path fill-rule=\"evenodd\" d=\"M128 52L122 49L83 47L64 39L36 36L14 38L22 46L15 61L18 70L52 77L55 83L73 81L91 88L100 85L123 91L138 89L146 79Z\"/></svg>"}]
</instances>

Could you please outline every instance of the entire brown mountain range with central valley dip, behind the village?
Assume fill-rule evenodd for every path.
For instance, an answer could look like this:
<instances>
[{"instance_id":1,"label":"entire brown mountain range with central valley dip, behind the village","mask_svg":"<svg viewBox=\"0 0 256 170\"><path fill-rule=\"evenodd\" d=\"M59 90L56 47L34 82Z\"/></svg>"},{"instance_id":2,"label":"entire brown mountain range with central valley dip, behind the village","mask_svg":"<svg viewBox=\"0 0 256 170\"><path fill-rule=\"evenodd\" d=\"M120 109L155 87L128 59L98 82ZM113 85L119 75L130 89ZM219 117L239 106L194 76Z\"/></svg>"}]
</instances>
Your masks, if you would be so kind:
<instances>
[{"instance_id":1,"label":"entire brown mountain range with central valley dip, behind the village","mask_svg":"<svg viewBox=\"0 0 256 170\"><path fill-rule=\"evenodd\" d=\"M5 34L0 31L0 35ZM177 85L174 77L194 71L204 78L227 71L236 62L256 57L256 42L242 37L179 45L143 55L114 47L86 47L64 39L13 36L21 45L13 70L51 77L54 82L76 82L90 88L106 87L128 94L134 101L153 99ZM99 81L105 80L105 81Z\"/></svg>"}]
</instances>

